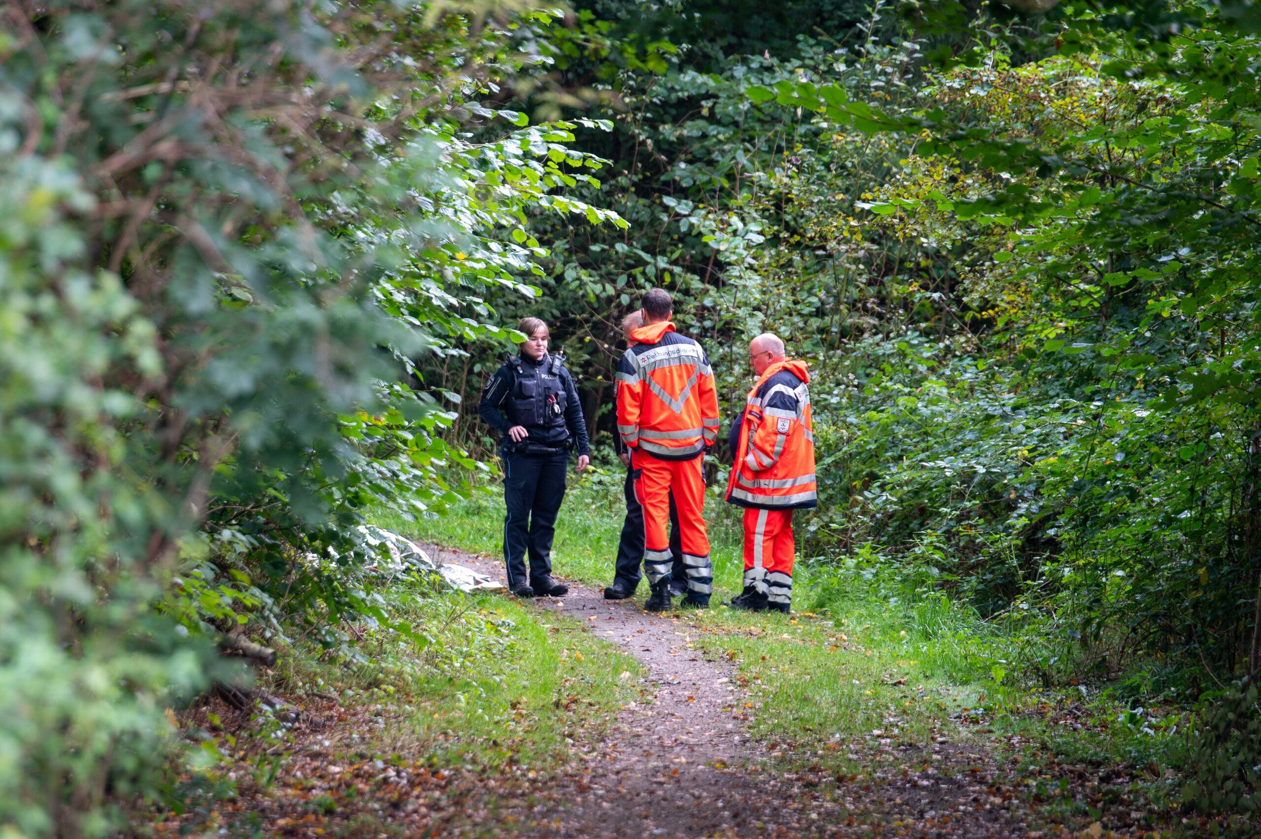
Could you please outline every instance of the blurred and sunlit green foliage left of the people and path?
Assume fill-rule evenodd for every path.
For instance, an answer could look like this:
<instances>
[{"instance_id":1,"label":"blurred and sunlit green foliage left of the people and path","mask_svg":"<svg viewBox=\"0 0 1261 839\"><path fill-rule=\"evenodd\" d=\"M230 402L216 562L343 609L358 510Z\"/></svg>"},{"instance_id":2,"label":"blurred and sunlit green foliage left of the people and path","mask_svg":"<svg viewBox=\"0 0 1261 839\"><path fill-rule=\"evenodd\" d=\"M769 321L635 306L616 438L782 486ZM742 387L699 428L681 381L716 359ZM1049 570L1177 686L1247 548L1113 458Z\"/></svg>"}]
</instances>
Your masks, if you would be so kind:
<instances>
[{"instance_id":1,"label":"blurred and sunlit green foliage left of the people and path","mask_svg":"<svg viewBox=\"0 0 1261 839\"><path fill-rule=\"evenodd\" d=\"M554 194L599 167L569 125L478 105L549 13L4 15L0 824L100 835L164 707L242 678L221 633L385 618L361 511L474 466L410 360L503 334L453 302L523 288L527 208L617 220Z\"/></svg>"}]
</instances>

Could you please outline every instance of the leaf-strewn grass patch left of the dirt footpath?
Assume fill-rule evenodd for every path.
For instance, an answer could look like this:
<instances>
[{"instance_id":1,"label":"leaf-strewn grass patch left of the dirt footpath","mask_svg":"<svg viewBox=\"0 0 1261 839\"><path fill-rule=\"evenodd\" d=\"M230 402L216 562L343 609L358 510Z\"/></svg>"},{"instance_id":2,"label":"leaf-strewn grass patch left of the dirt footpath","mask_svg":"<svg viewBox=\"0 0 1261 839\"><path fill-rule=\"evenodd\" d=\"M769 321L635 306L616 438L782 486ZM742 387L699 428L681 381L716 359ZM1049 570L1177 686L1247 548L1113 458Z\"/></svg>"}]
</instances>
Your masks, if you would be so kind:
<instances>
[{"instance_id":1,"label":"leaf-strewn grass patch left of the dirt footpath","mask_svg":"<svg viewBox=\"0 0 1261 839\"><path fill-rule=\"evenodd\" d=\"M436 592L414 583L383 592L416 642L387 628L357 630L358 659L286 656L277 690L335 693L367 709L337 747L349 754L426 753L440 766L564 763L595 741L646 669L583 622L542 614L498 594ZM622 675L627 674L627 675ZM371 754L369 754L371 753Z\"/></svg>"}]
</instances>

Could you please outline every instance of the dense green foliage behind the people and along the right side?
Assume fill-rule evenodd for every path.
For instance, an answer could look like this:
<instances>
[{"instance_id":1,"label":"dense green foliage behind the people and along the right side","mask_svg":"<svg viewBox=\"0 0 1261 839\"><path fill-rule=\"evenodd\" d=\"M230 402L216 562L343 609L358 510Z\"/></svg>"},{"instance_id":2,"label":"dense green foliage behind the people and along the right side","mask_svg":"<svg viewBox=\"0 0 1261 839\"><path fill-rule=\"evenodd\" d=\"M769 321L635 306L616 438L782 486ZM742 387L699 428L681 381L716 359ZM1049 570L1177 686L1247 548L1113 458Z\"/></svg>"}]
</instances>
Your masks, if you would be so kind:
<instances>
[{"instance_id":1,"label":"dense green foliage behind the people and along the right side","mask_svg":"<svg viewBox=\"0 0 1261 839\"><path fill-rule=\"evenodd\" d=\"M593 426L644 288L728 404L743 342L782 334L816 375L808 553L1018 627L1033 683L1211 700L1258 664L1255 13L890 11L802 15L776 54L769 23L649 16L677 53L596 73L625 110L579 136L629 230L536 225L547 300L499 305L556 324Z\"/></svg>"}]
</instances>

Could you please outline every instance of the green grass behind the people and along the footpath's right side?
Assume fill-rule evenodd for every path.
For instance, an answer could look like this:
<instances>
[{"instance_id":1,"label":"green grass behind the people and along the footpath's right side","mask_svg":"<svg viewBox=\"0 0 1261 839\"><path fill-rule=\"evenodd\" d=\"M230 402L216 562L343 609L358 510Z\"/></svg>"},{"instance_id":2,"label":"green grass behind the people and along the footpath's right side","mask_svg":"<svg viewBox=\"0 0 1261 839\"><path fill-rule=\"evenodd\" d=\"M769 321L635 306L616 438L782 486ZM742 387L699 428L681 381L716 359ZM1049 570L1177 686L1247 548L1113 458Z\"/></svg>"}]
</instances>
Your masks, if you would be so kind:
<instances>
[{"instance_id":1,"label":"green grass behind the people and along the footpath's right side","mask_svg":"<svg viewBox=\"0 0 1261 839\"><path fill-rule=\"evenodd\" d=\"M556 527L557 574L593 585L612 580L624 515L622 477L615 468L571 477ZM715 603L740 588L740 512L719 496L706 500ZM501 554L502 521L497 488L440 519L375 516L375 524L398 532L494 556ZM1076 690L1052 694L1018 683L1021 640L966 604L942 596L902 599L897 580L881 583L861 568L822 561L798 561L793 578L791 617L721 607L680 617L695 628L697 648L738 664L753 708L730 713L749 717L759 738L777 746L772 762L784 768L817 762L837 772L879 771L888 761L870 754L883 738L924 744L946 733L966 744L968 729L948 720L965 709L972 722L985 720L991 737L1016 734L1035 742L1021 758L1030 770L1055 760L1161 770L1178 763L1182 749L1164 730L1153 737L1141 723L1108 725L1106 719L1124 709L1106 693L1086 700ZM646 587L639 594L647 594ZM1071 703L1084 705L1091 719L1103 724L1068 733L1073 729L1053 718ZM881 736L873 736L875 730ZM980 733L971 737L984 739Z\"/></svg>"}]
</instances>

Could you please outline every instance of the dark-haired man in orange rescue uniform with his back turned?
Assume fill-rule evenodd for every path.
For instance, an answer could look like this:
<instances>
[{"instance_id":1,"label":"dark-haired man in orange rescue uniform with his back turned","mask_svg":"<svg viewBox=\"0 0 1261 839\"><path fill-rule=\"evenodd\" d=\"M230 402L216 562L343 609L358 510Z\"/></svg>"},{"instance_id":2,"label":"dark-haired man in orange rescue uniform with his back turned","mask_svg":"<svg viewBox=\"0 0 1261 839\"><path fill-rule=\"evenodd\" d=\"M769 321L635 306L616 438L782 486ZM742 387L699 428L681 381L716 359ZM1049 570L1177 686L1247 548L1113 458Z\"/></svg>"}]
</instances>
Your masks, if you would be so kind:
<instances>
[{"instance_id":1,"label":"dark-haired man in orange rescue uniform with his back turned","mask_svg":"<svg viewBox=\"0 0 1261 839\"><path fill-rule=\"evenodd\" d=\"M652 596L649 612L670 608L670 495L687 573L685 606L707 607L714 592L709 536L705 532L704 454L718 439L718 390L699 343L675 332L673 304L665 289L643 295L637 342L618 362L618 433L638 472L643 505L643 568Z\"/></svg>"}]
</instances>

